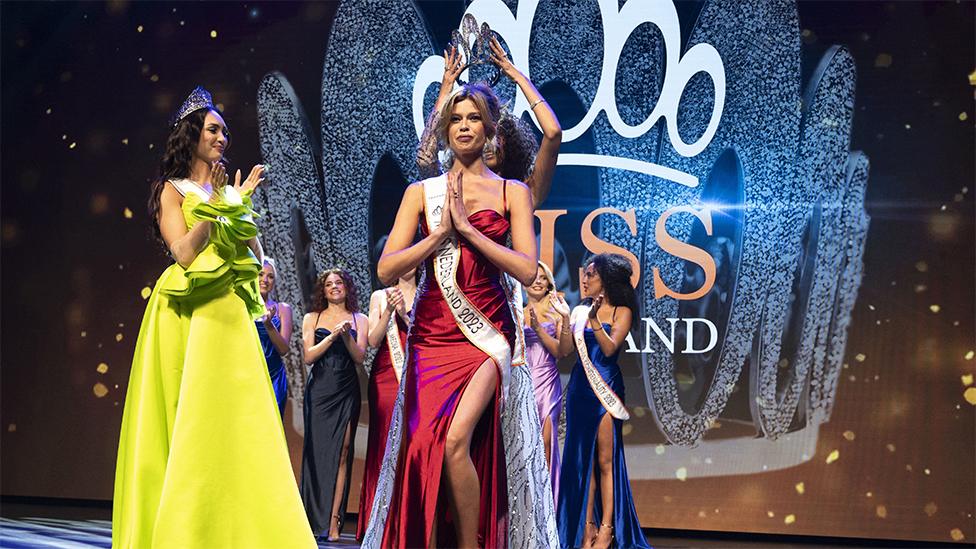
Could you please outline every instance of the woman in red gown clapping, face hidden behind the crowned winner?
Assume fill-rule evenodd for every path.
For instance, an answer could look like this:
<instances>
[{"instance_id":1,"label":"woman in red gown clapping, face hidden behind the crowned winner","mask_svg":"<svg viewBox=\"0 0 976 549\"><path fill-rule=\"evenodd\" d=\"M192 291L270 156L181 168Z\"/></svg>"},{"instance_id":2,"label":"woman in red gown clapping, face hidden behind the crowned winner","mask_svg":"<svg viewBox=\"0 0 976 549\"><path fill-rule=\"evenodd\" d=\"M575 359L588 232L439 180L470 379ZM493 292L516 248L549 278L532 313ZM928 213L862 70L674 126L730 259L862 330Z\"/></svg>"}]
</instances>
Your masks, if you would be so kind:
<instances>
[{"instance_id":1,"label":"woman in red gown clapping, face hidden behind the crowned winner","mask_svg":"<svg viewBox=\"0 0 976 549\"><path fill-rule=\"evenodd\" d=\"M369 335L367 343L376 349L369 372L369 438L363 464L363 487L359 494L359 521L356 539L362 541L373 508L373 494L379 480L387 433L393 416L400 376L406 361L404 345L410 325L410 311L417 295L417 271L400 277L395 286L376 290L369 296ZM395 331L394 331L395 330Z\"/></svg>"}]
</instances>

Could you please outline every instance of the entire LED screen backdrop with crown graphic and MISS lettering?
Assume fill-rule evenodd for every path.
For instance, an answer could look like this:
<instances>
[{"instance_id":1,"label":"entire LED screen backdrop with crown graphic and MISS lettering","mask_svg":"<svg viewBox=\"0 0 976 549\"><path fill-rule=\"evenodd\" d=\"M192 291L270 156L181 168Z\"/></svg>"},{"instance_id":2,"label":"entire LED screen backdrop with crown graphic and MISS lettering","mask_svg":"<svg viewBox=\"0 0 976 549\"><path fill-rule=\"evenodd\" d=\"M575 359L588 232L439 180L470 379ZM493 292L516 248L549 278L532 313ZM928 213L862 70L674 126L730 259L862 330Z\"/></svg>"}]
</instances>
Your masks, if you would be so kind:
<instances>
[{"instance_id":1,"label":"entire LED screen backdrop with crown graphic and MISS lettering","mask_svg":"<svg viewBox=\"0 0 976 549\"><path fill-rule=\"evenodd\" d=\"M0 9L4 494L111 497L167 263L147 181L185 94L213 91L232 167L271 164L259 224L301 314L327 266L377 287L439 52L470 13L563 126L537 212L560 291L578 301L591 252L640 272L622 367L643 525L973 539L973 4ZM297 463L297 353L289 374Z\"/></svg>"}]
</instances>

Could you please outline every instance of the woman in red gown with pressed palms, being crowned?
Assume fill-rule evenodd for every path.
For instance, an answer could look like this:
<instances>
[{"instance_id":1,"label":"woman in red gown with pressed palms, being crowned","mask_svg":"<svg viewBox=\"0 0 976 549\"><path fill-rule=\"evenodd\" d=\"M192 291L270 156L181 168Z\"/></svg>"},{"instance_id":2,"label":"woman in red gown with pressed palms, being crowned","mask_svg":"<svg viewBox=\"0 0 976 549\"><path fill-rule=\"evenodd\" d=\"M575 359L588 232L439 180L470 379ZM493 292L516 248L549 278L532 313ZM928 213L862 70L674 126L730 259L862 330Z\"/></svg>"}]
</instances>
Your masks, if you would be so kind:
<instances>
[{"instance_id":1,"label":"woman in red gown with pressed palms, being crowned","mask_svg":"<svg viewBox=\"0 0 976 549\"><path fill-rule=\"evenodd\" d=\"M508 542L498 413L521 327L501 275L530 284L536 244L529 189L500 178L482 158L499 111L498 98L479 84L445 103L439 134L454 163L407 188L377 268L384 283L421 262L426 268L407 345L401 454L383 547ZM412 244L418 222L424 238Z\"/></svg>"}]
</instances>

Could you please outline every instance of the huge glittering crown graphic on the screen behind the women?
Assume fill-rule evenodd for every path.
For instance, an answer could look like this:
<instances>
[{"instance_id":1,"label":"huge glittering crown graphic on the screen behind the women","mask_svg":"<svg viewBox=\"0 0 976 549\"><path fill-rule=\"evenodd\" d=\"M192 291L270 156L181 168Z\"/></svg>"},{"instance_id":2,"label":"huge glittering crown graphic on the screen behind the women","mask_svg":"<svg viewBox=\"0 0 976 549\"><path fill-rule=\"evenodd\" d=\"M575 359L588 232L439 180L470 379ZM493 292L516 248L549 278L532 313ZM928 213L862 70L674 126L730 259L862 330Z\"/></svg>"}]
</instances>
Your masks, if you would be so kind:
<instances>
[{"instance_id":1,"label":"huge glittering crown graphic on the screen behind the women","mask_svg":"<svg viewBox=\"0 0 976 549\"><path fill-rule=\"evenodd\" d=\"M688 477L762 472L812 459L841 381L869 224L869 163L850 149L850 53L828 49L804 77L795 2L705 2L687 33L669 2L525 0L513 11L475 0L466 15L457 35L470 47L467 63L484 64L487 28L539 89L569 97L569 106L553 101L572 151L559 165L598 168L573 172L595 188L594 236L639 262L635 332L647 352L621 354L627 375L640 371L627 387L631 478L673 478L679 466ZM385 30L389 21L397 32ZM283 75L265 76L258 89L262 154L282 166L260 191L268 215L259 224L269 253L294 266L278 279L282 299L294 302L308 297L301 273L339 259L361 287L372 283L371 235L388 226L372 217L393 215L376 193L402 190L378 174L418 179L417 139L444 71L414 3L343 2L330 32L315 135ZM388 63L348 54L361 50L396 54ZM495 90L513 116L533 116L511 82ZM553 183L553 196L583 192L567 178ZM675 207L684 209L657 229ZM689 213L704 210L707 229ZM560 229L564 248L582 246L569 240L579 227ZM655 270L674 291L700 285L690 262L658 241L665 232L715 258L715 284L701 299L655 295ZM697 355L677 345L668 352L655 347L653 330L643 337L644 318L664 330L670 319L676 330L683 319L708 319L715 344ZM692 329L672 339L684 345L689 333L699 337Z\"/></svg>"}]
</instances>

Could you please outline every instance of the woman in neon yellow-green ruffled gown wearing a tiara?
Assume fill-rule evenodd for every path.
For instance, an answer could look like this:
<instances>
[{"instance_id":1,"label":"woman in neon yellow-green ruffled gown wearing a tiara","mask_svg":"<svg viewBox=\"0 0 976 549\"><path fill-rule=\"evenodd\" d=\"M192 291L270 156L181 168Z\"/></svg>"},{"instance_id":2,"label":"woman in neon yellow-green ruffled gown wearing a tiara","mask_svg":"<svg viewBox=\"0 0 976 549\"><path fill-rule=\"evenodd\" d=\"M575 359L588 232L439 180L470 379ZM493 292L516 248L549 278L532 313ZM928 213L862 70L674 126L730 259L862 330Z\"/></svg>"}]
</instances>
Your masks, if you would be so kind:
<instances>
[{"instance_id":1,"label":"woman in neon yellow-green ruffled gown wearing a tiara","mask_svg":"<svg viewBox=\"0 0 976 549\"><path fill-rule=\"evenodd\" d=\"M136 342L115 473L116 549L314 548L254 319L261 245L210 94L183 104L150 215L176 263Z\"/></svg>"}]
</instances>

